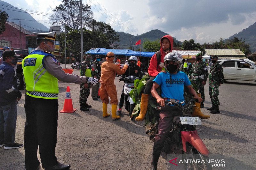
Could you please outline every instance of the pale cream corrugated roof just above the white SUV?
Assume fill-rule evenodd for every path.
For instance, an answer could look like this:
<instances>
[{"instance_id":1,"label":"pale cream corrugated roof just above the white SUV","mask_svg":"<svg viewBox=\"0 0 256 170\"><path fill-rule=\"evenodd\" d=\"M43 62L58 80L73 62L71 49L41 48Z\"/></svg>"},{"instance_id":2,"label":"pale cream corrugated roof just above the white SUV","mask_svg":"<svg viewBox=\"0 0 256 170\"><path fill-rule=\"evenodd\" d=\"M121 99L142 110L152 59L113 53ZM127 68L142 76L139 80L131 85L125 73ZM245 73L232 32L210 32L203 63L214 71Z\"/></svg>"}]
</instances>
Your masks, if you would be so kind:
<instances>
[{"instance_id":1,"label":"pale cream corrugated roof just above the white SUV","mask_svg":"<svg viewBox=\"0 0 256 170\"><path fill-rule=\"evenodd\" d=\"M224 55L224 56L230 56L230 55L236 55L236 56L245 56L245 54L240 51L240 49L204 49L205 54L204 55Z\"/></svg>"}]
</instances>

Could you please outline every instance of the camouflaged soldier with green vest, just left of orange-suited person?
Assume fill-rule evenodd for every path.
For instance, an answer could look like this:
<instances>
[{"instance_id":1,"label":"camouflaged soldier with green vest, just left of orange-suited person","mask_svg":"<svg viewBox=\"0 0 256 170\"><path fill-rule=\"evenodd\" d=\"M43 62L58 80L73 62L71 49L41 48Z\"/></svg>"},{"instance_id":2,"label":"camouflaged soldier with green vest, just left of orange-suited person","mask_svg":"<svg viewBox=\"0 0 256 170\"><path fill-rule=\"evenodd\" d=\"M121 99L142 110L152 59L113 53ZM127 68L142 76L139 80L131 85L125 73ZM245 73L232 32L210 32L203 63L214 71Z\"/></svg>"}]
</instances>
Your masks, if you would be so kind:
<instances>
[{"instance_id":1,"label":"camouflaged soldier with green vest, just left of orange-suited person","mask_svg":"<svg viewBox=\"0 0 256 170\"><path fill-rule=\"evenodd\" d=\"M92 56L89 54L84 55L84 61L80 64L80 76L88 76L93 77L92 75L92 65L90 61L92 60ZM87 98L90 94L91 84L84 83L80 85L80 95L79 95L79 103L80 110L88 111L91 105L87 104Z\"/></svg>"}]
</instances>

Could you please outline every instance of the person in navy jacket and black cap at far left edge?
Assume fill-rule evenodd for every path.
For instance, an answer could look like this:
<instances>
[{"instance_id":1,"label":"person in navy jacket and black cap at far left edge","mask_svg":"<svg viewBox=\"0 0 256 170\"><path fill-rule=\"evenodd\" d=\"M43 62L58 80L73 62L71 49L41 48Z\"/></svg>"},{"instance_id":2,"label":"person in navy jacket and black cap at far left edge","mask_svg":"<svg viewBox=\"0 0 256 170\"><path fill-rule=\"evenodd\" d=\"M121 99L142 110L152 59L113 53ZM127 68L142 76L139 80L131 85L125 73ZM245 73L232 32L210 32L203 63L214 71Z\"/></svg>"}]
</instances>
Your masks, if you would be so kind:
<instances>
[{"instance_id":1,"label":"person in navy jacket and black cap at far left edge","mask_svg":"<svg viewBox=\"0 0 256 170\"><path fill-rule=\"evenodd\" d=\"M14 50L5 50L3 61L0 65L0 147L5 144L4 149L14 149L23 146L15 143L17 103L21 99L13 69L18 61L17 54Z\"/></svg>"}]
</instances>

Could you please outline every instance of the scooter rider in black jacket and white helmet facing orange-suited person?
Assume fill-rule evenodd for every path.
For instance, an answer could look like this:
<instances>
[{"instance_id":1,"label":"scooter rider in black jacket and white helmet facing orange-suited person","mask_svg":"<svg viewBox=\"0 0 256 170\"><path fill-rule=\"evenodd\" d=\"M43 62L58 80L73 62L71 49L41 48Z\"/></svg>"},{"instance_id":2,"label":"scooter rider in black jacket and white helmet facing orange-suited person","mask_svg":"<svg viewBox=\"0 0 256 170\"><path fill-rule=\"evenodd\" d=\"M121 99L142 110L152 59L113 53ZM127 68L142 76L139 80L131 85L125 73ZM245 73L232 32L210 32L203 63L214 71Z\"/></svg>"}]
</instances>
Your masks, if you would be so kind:
<instances>
[{"instance_id":1,"label":"scooter rider in black jacket and white helmet facing orange-suited person","mask_svg":"<svg viewBox=\"0 0 256 170\"><path fill-rule=\"evenodd\" d=\"M140 70L140 67L137 65L138 59L135 56L130 56L129 58L129 67L125 71L125 73L121 76L119 79L120 81L124 81L125 77L129 76L136 76L139 77L142 74L142 71ZM124 85L123 85L123 91L122 95L119 101L119 108L117 110L118 113L122 112L122 107L124 106Z\"/></svg>"}]
</instances>

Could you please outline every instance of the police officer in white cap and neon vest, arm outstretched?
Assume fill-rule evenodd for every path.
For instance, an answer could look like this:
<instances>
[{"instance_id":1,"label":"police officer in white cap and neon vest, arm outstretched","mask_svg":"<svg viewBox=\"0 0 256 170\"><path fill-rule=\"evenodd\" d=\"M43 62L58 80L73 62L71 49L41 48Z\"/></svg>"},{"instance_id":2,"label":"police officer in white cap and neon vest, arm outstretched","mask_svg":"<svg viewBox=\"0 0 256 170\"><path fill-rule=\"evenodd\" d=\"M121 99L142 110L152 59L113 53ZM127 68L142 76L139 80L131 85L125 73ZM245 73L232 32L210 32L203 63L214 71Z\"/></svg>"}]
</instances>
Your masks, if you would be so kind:
<instances>
[{"instance_id":1,"label":"police officer in white cap and neon vest, arm outstretched","mask_svg":"<svg viewBox=\"0 0 256 170\"><path fill-rule=\"evenodd\" d=\"M37 35L38 47L22 61L26 83L25 98L25 168L37 169L39 160L49 169L68 169L70 165L60 164L55 156L58 120L58 79L68 83L91 83L98 80L91 77L65 73L54 59L56 31L51 33L34 33Z\"/></svg>"}]
</instances>

